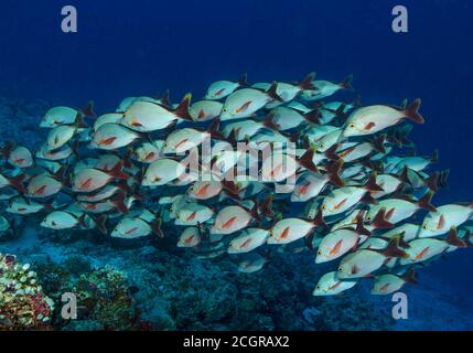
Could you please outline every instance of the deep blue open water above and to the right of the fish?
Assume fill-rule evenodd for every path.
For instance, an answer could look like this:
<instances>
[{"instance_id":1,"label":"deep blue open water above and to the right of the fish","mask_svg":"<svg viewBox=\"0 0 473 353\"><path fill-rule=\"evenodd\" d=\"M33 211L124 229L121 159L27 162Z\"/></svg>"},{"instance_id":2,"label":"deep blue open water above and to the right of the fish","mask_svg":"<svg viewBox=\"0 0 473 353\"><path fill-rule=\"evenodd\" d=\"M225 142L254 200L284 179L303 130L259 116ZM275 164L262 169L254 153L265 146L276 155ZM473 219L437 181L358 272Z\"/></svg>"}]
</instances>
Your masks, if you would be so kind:
<instances>
[{"instance_id":1,"label":"deep blue open water above and to the right of the fish","mask_svg":"<svg viewBox=\"0 0 473 353\"><path fill-rule=\"evenodd\" d=\"M165 88L173 100L186 92L198 97L211 82L243 73L250 82L300 79L311 71L333 81L353 74L363 104L422 98L426 124L411 139L419 154L439 149L437 167L451 170L436 204L473 199L469 1L66 2L2 1L1 94L72 106L94 99L106 111L122 97ZM61 31L65 4L77 8L77 33ZM409 11L408 33L391 31L396 4ZM431 290L449 288L469 311L472 266L471 252L456 252L423 269L419 286L422 276L434 278ZM455 325L444 320L438 324Z\"/></svg>"}]
</instances>

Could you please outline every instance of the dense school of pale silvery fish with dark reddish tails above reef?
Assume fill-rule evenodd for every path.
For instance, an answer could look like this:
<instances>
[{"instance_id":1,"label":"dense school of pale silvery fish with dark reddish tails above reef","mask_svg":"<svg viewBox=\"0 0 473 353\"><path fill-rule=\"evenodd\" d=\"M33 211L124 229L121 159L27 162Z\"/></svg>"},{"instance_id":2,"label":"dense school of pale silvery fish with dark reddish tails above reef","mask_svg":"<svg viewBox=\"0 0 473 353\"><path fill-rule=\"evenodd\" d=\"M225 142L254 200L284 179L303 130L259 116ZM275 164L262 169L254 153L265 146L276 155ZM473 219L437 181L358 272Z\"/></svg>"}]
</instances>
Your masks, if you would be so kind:
<instances>
[{"instance_id":1,"label":"dense school of pale silvery fish with dark reddish tails above reef","mask_svg":"<svg viewBox=\"0 0 473 353\"><path fill-rule=\"evenodd\" d=\"M432 203L449 171L431 171L437 152L416 156L408 140L410 122L424 121L420 99L329 100L353 92L351 82L244 76L213 83L196 101L127 97L98 117L92 104L51 108L37 151L2 143L0 233L14 232L20 215L58 232L170 236L201 258L228 254L241 272L260 270L273 252L310 252L315 264L336 264L314 296L361 280L373 295L395 292L416 282L418 267L472 246L473 204ZM205 141L211 153L194 153ZM238 143L269 157L254 161ZM281 148L289 145L293 153Z\"/></svg>"}]
</instances>

